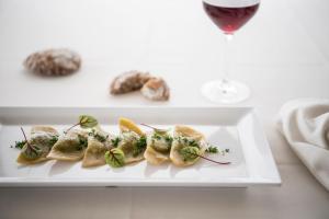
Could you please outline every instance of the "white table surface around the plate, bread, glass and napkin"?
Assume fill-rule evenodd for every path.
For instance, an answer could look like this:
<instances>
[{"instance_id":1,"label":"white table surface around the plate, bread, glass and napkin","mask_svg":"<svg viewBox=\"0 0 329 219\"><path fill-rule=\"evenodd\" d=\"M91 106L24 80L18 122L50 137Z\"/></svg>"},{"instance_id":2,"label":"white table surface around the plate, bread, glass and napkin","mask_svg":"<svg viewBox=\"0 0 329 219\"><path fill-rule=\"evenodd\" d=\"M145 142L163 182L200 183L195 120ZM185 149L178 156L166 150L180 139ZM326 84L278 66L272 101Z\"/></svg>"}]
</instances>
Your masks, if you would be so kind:
<instances>
[{"instance_id":1,"label":"white table surface around the plate, bread, glass and napkin","mask_svg":"<svg viewBox=\"0 0 329 219\"><path fill-rule=\"evenodd\" d=\"M235 38L234 73L260 112L281 187L0 188L0 218L329 218L329 194L275 129L280 106L329 97L329 1L263 0ZM220 76L223 37L201 0L0 0L0 106L206 106L202 82ZM32 51L70 47L80 72L25 72ZM166 78L168 103L109 95L125 70ZM26 217L29 216L29 217Z\"/></svg>"}]
</instances>

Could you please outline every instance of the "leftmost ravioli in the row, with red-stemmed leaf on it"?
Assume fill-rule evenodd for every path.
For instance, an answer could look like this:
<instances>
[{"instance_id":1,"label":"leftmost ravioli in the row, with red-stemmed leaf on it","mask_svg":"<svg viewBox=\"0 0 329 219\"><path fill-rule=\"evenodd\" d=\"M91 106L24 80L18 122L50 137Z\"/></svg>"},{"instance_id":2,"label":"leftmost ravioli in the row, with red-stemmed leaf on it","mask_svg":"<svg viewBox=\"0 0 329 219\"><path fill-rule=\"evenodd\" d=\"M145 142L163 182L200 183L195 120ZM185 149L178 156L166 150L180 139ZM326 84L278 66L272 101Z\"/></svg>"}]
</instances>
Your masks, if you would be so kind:
<instances>
[{"instance_id":1,"label":"leftmost ravioli in the row, with red-stemmed leaf on it","mask_svg":"<svg viewBox=\"0 0 329 219\"><path fill-rule=\"evenodd\" d=\"M57 130L49 126L34 126L31 129L30 140L26 139L23 129L22 131L25 141L16 159L18 163L34 164L46 161L47 154L58 139Z\"/></svg>"}]
</instances>

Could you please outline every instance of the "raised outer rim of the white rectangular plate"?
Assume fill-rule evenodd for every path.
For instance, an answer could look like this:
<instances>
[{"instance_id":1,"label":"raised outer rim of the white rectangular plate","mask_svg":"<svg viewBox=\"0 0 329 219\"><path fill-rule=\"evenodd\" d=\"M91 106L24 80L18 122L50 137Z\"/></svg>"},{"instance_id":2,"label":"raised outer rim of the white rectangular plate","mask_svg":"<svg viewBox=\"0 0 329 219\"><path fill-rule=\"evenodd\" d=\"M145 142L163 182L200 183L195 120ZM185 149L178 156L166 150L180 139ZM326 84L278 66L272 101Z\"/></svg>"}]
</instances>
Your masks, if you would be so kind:
<instances>
[{"instance_id":1,"label":"raised outer rim of the white rectangular plate","mask_svg":"<svg viewBox=\"0 0 329 219\"><path fill-rule=\"evenodd\" d=\"M246 111L246 114L243 115L243 117L247 114L252 114L253 118L257 122L257 125L259 126L259 129L261 131L261 136L263 137L263 143L264 143L264 148L266 148L266 152L270 158L270 160L268 162L271 163L272 165L272 170L271 172L273 173L273 177L271 178L266 178L266 177L253 177L249 174L247 174L246 177L240 177L243 178L242 181L232 181L231 178L234 177L229 177L230 180L212 180L212 182L189 182L189 180L185 182L183 182L184 180L172 180L172 178L168 178L164 180L161 178L162 182L156 182L157 180L151 178L151 180L131 180L131 182L127 181L117 181L117 182L113 182L109 181L109 178L104 178L102 181L97 182L94 178L90 178L89 181L81 181L79 178L66 178L66 177L61 177L61 178L48 178L48 177L2 177L0 176L0 187L12 187L12 186L161 186L161 187L166 187L166 186L196 186L196 187L243 187L243 186L253 186L253 185L281 185L282 184L282 180L281 180L281 175L280 172L277 170L277 165L276 162L274 160L273 157L273 152L271 149L271 146L269 143L269 140L266 138L265 131L263 129L263 125L260 122L259 117L258 117L258 111L256 107L253 106L162 106L162 105L154 105L154 106L0 106L0 116L2 116L2 112L3 111L12 111L12 110L29 110L29 111L33 111L33 110L243 110ZM0 117L1 119L1 117ZM5 123L4 123L5 124ZM0 120L0 131L1 131L1 120ZM245 154L245 152L243 152ZM245 154L246 157L246 154ZM247 165L247 162L246 162ZM100 180L100 178L97 178ZM107 181L106 181L107 180ZM54 185L55 184L55 185ZM117 184L117 185L114 185Z\"/></svg>"}]
</instances>

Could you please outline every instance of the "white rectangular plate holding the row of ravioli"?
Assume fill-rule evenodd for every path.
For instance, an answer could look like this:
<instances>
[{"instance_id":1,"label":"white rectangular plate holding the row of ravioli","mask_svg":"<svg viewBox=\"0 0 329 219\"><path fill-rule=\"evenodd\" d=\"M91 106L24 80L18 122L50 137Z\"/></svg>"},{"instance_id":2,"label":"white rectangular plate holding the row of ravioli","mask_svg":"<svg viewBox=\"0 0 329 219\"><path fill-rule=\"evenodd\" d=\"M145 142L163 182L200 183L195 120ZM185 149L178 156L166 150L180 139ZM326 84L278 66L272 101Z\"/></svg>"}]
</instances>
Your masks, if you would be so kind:
<instances>
[{"instance_id":1,"label":"white rectangular plate holding the row of ravioli","mask_svg":"<svg viewBox=\"0 0 329 219\"><path fill-rule=\"evenodd\" d=\"M146 161L112 169L107 165L83 169L81 162L47 161L23 166L15 162L19 150L10 148L22 140L20 127L52 125L60 130L90 114L102 127L118 132L118 117L157 127L184 124L202 131L222 149L225 157L212 155L231 164L200 160L189 168L171 163L159 166ZM0 186L229 186L280 185L281 178L269 143L250 107L0 107Z\"/></svg>"}]
</instances>

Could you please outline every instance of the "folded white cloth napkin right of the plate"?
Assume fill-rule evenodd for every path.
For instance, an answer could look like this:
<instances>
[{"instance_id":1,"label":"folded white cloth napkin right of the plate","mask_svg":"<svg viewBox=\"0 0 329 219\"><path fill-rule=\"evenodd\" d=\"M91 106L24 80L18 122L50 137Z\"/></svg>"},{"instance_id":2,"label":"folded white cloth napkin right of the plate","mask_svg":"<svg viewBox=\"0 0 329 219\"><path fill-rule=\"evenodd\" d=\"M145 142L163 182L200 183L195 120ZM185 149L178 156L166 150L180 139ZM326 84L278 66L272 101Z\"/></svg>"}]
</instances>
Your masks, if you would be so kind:
<instances>
[{"instance_id":1,"label":"folded white cloth napkin right of the plate","mask_svg":"<svg viewBox=\"0 0 329 219\"><path fill-rule=\"evenodd\" d=\"M329 191L329 100L295 100L280 111L279 129Z\"/></svg>"}]
</instances>

